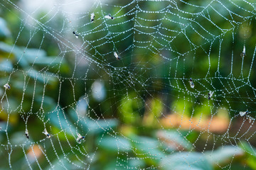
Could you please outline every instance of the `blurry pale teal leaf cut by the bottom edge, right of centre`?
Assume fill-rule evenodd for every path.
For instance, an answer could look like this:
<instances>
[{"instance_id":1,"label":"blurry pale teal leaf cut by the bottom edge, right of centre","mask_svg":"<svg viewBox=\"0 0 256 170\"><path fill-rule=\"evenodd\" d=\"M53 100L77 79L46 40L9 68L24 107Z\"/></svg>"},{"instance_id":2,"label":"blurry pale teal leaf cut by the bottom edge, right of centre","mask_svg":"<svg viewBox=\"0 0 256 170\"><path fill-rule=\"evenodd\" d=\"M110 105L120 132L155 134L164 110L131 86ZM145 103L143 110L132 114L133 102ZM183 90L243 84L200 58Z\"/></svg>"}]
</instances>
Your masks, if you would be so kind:
<instances>
[{"instance_id":1,"label":"blurry pale teal leaf cut by the bottom edge, right of centre","mask_svg":"<svg viewBox=\"0 0 256 170\"><path fill-rule=\"evenodd\" d=\"M160 166L163 170L178 169L178 170L211 170L213 166L210 165L206 157L199 152L176 152L165 157Z\"/></svg>"}]
</instances>

